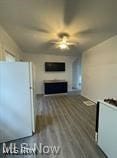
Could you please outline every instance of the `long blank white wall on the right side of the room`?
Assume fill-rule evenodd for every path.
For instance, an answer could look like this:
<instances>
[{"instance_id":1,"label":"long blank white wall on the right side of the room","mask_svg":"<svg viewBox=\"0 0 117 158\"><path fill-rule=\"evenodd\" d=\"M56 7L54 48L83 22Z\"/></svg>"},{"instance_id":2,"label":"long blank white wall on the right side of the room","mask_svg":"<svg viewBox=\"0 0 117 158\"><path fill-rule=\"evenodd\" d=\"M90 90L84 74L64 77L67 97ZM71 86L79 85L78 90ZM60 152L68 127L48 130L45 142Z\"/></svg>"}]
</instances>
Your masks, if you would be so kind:
<instances>
[{"instance_id":1,"label":"long blank white wall on the right side of the room","mask_svg":"<svg viewBox=\"0 0 117 158\"><path fill-rule=\"evenodd\" d=\"M117 99L117 36L83 53L82 95L97 101Z\"/></svg>"}]
</instances>

